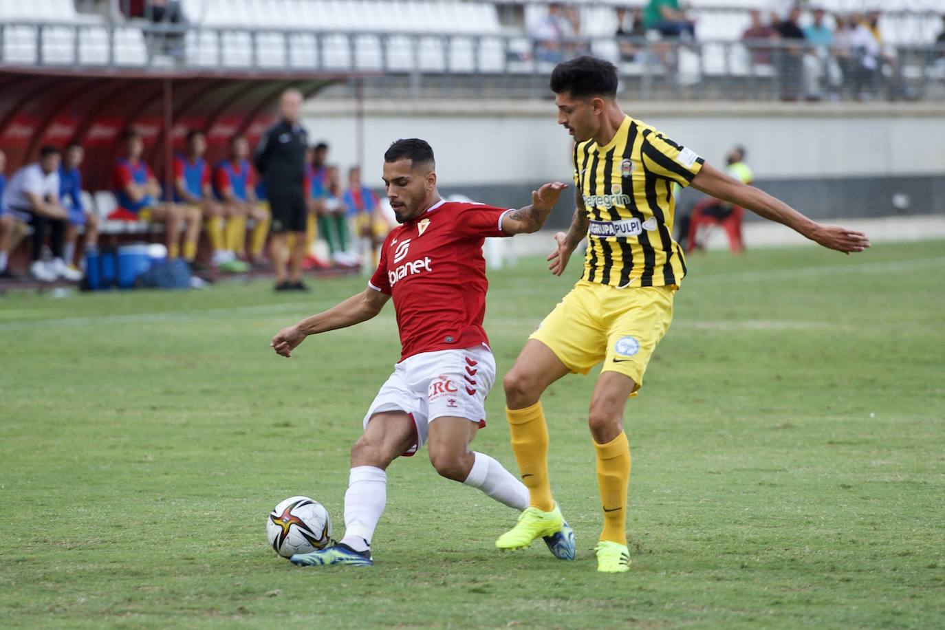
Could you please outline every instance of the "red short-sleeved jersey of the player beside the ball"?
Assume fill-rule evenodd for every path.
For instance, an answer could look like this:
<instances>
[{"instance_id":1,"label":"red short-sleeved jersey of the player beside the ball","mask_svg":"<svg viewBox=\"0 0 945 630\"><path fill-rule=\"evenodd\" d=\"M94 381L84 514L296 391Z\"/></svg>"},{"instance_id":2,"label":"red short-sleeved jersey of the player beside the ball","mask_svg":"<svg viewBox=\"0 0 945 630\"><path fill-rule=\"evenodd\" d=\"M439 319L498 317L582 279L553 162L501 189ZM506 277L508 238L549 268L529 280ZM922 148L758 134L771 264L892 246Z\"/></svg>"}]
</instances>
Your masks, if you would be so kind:
<instances>
[{"instance_id":1,"label":"red short-sleeved jersey of the player beside the ball","mask_svg":"<svg viewBox=\"0 0 945 630\"><path fill-rule=\"evenodd\" d=\"M502 231L504 208L439 201L389 234L368 285L394 299L401 361L421 352L488 344L487 236Z\"/></svg>"}]
</instances>

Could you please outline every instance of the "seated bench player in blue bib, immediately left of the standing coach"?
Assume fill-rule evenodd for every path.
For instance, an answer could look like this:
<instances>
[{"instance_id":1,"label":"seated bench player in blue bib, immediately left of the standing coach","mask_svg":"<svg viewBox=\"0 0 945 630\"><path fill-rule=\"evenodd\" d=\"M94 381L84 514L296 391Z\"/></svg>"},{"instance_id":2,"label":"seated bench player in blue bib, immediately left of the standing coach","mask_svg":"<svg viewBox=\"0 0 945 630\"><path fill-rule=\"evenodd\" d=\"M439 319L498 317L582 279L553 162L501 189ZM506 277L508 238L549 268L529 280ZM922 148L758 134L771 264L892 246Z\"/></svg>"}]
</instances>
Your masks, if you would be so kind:
<instances>
[{"instance_id":1,"label":"seated bench player in blue bib, immediately left of the standing coach","mask_svg":"<svg viewBox=\"0 0 945 630\"><path fill-rule=\"evenodd\" d=\"M214 193L230 217L227 221L227 249L252 264L263 263L263 250L269 235L269 210L256 199L252 166L249 165L249 143L244 136L230 140L230 157L216 165ZM249 237L249 257L246 255L246 225L254 225Z\"/></svg>"}]
</instances>

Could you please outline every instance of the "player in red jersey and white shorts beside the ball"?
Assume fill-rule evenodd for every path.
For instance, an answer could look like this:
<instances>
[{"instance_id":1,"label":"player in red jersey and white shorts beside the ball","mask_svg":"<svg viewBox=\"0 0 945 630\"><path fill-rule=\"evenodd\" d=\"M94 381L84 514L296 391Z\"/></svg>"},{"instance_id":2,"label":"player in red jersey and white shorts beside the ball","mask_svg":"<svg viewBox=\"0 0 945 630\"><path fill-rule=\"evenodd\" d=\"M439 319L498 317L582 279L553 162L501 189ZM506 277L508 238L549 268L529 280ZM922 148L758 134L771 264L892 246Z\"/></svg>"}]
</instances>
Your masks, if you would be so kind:
<instances>
[{"instance_id":1,"label":"player in red jersey and white shorts beside the ball","mask_svg":"<svg viewBox=\"0 0 945 630\"><path fill-rule=\"evenodd\" d=\"M306 336L366 321L393 298L403 347L352 447L345 536L334 547L293 555L297 565L372 564L370 539L387 502L387 466L424 443L443 477L520 512L528 507L521 481L489 455L469 449L486 425L484 401L495 380L482 327L488 287L482 246L488 236L540 230L567 185L544 184L532 191L530 205L506 210L441 199L433 149L422 140L398 140L384 160L387 198L401 225L387 235L368 288L272 338L272 348L287 357ZM567 523L545 542L558 558L574 558Z\"/></svg>"}]
</instances>

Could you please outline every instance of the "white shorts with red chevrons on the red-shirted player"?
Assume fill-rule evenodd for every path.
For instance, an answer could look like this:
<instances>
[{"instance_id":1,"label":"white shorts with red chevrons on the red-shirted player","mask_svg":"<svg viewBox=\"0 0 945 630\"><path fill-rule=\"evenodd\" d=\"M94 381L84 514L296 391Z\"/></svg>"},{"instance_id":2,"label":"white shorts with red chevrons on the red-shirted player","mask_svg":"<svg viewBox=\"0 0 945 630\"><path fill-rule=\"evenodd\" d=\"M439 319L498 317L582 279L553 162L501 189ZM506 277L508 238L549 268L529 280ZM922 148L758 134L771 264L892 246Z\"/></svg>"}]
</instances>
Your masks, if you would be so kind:
<instances>
[{"instance_id":1,"label":"white shorts with red chevrons on the red-shirted player","mask_svg":"<svg viewBox=\"0 0 945 630\"><path fill-rule=\"evenodd\" d=\"M416 443L404 452L410 456L426 442L430 422L438 417L465 417L486 426L486 397L495 383L495 359L484 345L457 350L421 352L394 366L381 386L368 415L403 411L417 427Z\"/></svg>"}]
</instances>

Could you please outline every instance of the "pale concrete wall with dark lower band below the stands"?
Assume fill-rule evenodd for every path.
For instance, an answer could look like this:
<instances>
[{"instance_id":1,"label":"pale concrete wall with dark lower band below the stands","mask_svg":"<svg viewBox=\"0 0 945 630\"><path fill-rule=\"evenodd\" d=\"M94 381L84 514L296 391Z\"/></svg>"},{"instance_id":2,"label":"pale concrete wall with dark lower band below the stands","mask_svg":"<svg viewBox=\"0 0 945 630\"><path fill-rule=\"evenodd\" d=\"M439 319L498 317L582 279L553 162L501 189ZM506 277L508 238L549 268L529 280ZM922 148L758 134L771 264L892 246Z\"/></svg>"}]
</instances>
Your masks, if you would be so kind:
<instances>
[{"instance_id":1,"label":"pale concrete wall with dark lower band below the stands","mask_svg":"<svg viewBox=\"0 0 945 630\"><path fill-rule=\"evenodd\" d=\"M757 185L815 217L945 213L945 108L934 104L625 103L716 165L731 145L747 148ZM433 145L444 192L523 205L542 181L571 181L571 141L549 102L369 101L362 123L352 102L315 99L305 123L342 166L364 156L380 184L393 140ZM359 132L360 129L360 132ZM685 191L680 206L695 203ZM564 201L554 224L570 218Z\"/></svg>"}]
</instances>

